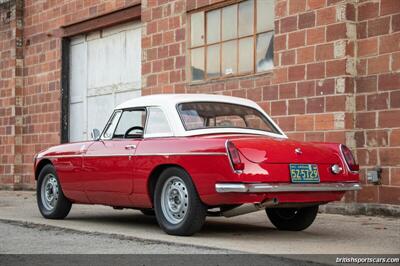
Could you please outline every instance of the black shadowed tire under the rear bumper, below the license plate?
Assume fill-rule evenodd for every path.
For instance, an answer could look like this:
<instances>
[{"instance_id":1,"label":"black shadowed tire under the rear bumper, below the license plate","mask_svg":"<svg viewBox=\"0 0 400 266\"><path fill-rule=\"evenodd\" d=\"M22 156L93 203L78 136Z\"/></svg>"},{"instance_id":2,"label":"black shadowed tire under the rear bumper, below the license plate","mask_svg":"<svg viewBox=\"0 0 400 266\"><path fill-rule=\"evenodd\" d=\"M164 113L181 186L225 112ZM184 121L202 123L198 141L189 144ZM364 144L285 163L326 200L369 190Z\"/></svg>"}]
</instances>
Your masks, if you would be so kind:
<instances>
[{"instance_id":1,"label":"black shadowed tire under the rear bumper, below the license plate","mask_svg":"<svg viewBox=\"0 0 400 266\"><path fill-rule=\"evenodd\" d=\"M304 208L271 208L265 210L271 223L283 231L302 231L318 214L318 205Z\"/></svg>"}]
</instances>

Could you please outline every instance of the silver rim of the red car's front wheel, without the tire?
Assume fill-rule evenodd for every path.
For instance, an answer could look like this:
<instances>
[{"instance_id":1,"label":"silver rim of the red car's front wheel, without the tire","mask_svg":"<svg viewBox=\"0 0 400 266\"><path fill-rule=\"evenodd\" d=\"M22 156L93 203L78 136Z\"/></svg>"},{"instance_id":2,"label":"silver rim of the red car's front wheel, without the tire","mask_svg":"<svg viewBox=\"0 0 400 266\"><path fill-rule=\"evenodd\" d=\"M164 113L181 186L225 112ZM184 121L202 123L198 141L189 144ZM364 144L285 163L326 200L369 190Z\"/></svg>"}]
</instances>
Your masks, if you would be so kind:
<instances>
[{"instance_id":1,"label":"silver rim of the red car's front wheel, without the tire","mask_svg":"<svg viewBox=\"0 0 400 266\"><path fill-rule=\"evenodd\" d=\"M57 205L59 194L59 187L57 178L53 174L47 174L42 182L40 189L40 197L42 199L43 207L52 211Z\"/></svg>"}]
</instances>

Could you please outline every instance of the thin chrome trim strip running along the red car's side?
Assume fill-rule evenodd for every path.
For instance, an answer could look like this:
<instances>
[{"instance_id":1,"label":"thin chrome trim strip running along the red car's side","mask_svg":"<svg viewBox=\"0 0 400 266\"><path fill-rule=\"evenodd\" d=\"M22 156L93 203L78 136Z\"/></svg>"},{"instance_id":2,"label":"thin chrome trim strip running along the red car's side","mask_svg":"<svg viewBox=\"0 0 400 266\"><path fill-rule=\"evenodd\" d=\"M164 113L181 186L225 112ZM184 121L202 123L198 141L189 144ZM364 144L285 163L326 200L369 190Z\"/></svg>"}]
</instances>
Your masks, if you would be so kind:
<instances>
[{"instance_id":1,"label":"thin chrome trim strip running along the red car's side","mask_svg":"<svg viewBox=\"0 0 400 266\"><path fill-rule=\"evenodd\" d=\"M123 156L226 156L225 152L177 152L177 153L141 153L141 154L73 154L73 155L50 155L43 158L73 158L73 157L123 157Z\"/></svg>"}]
</instances>

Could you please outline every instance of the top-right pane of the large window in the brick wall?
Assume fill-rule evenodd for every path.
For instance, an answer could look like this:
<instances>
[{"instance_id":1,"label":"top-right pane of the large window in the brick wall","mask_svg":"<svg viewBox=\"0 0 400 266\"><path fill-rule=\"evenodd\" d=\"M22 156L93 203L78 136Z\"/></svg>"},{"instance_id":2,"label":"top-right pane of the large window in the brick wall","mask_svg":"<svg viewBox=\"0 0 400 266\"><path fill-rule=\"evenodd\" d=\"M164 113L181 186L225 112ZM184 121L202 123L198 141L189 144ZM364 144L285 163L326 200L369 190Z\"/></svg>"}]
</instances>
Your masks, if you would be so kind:
<instances>
[{"instance_id":1,"label":"top-right pane of the large window in the brick wall","mask_svg":"<svg viewBox=\"0 0 400 266\"><path fill-rule=\"evenodd\" d=\"M275 0L257 0L257 32L274 29Z\"/></svg>"}]
</instances>

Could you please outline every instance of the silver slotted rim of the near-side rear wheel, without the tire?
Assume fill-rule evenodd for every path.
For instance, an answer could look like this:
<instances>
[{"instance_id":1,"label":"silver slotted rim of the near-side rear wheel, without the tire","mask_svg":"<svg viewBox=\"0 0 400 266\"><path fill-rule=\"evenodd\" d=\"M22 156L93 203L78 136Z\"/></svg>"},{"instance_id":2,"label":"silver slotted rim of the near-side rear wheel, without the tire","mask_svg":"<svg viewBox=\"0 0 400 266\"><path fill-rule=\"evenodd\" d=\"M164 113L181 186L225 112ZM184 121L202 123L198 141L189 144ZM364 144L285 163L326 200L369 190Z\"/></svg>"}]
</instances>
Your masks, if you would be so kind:
<instances>
[{"instance_id":1,"label":"silver slotted rim of the near-side rear wheel, without the tire","mask_svg":"<svg viewBox=\"0 0 400 266\"><path fill-rule=\"evenodd\" d=\"M171 224L178 224L186 217L189 207L189 192L185 182L178 176L165 181L161 192L161 210Z\"/></svg>"}]
</instances>

